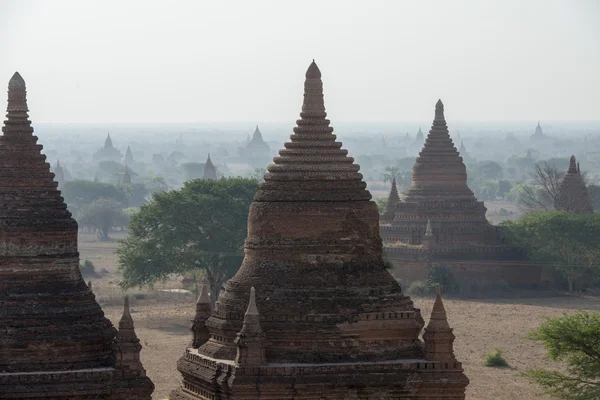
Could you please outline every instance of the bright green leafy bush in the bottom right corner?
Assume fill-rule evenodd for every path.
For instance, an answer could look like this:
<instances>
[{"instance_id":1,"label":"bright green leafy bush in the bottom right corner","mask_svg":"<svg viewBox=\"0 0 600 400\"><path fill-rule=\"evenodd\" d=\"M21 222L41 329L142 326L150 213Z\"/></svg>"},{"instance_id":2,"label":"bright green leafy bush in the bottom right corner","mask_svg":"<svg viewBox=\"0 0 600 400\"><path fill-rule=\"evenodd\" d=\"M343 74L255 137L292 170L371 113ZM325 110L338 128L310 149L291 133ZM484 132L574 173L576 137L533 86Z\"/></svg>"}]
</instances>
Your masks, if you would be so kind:
<instances>
[{"instance_id":1,"label":"bright green leafy bush in the bottom right corner","mask_svg":"<svg viewBox=\"0 0 600 400\"><path fill-rule=\"evenodd\" d=\"M543 343L551 360L565 363L566 373L536 369L525 376L558 399L600 398L600 313L547 319L529 338Z\"/></svg>"}]
</instances>

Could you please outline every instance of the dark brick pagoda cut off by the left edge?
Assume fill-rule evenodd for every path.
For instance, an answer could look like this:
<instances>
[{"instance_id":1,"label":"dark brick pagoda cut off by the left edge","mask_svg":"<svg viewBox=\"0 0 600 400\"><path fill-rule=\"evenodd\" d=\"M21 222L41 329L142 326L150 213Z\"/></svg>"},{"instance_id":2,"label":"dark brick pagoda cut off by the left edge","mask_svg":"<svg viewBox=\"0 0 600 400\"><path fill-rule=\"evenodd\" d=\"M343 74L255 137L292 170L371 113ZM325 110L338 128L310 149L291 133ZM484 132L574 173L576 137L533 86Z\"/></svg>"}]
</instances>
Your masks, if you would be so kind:
<instances>
[{"instance_id":1,"label":"dark brick pagoda cut off by the left edge","mask_svg":"<svg viewBox=\"0 0 600 400\"><path fill-rule=\"evenodd\" d=\"M154 389L79 271L77 223L28 120L25 81L8 85L0 137L0 398L150 400Z\"/></svg>"}]
</instances>

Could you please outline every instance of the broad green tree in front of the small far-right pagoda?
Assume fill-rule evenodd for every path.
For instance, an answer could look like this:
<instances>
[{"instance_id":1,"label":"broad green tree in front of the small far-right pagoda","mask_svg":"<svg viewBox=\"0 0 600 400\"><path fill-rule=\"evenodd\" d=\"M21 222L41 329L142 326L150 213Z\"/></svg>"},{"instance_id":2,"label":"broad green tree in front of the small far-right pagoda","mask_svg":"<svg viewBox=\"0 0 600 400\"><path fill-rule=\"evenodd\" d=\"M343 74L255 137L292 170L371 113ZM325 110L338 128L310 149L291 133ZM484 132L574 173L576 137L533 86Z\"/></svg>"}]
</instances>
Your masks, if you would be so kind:
<instances>
[{"instance_id":1,"label":"broad green tree in front of the small far-right pagoda","mask_svg":"<svg viewBox=\"0 0 600 400\"><path fill-rule=\"evenodd\" d=\"M599 213L529 213L502 225L508 241L525 248L533 261L556 268L569 290L577 278L600 272Z\"/></svg>"}]
</instances>

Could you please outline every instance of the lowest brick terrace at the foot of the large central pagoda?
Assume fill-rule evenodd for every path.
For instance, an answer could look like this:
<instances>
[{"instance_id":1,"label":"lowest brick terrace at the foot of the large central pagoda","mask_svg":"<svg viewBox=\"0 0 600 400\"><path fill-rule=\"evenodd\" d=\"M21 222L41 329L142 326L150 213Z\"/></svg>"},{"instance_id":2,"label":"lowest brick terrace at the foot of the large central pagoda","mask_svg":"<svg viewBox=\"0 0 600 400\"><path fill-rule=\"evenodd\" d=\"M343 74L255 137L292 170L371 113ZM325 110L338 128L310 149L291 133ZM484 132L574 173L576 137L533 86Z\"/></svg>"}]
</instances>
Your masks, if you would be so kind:
<instances>
[{"instance_id":1,"label":"lowest brick terrace at the foot of the large central pagoda","mask_svg":"<svg viewBox=\"0 0 600 400\"><path fill-rule=\"evenodd\" d=\"M243 366L188 349L178 369L171 400L464 400L469 383L461 363L425 360Z\"/></svg>"}]
</instances>

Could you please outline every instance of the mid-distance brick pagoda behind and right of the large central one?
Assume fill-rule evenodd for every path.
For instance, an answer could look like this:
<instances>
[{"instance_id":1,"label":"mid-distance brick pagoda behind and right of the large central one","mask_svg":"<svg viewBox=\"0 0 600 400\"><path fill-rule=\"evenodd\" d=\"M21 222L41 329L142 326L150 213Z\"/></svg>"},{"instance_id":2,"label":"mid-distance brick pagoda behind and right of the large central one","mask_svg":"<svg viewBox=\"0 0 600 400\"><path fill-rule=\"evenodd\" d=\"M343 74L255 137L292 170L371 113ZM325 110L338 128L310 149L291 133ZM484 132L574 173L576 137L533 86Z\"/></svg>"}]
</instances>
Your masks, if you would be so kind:
<instances>
[{"instance_id":1,"label":"mid-distance brick pagoda behind and right of the large central one","mask_svg":"<svg viewBox=\"0 0 600 400\"><path fill-rule=\"evenodd\" d=\"M469 189L441 100L413 166L412 184L402 200L396 198L392 190L380 234L399 278L423 280L429 266L441 264L473 281L540 284L540 269L529 264L521 249L504 243L502 229L488 222L483 202Z\"/></svg>"}]
</instances>

